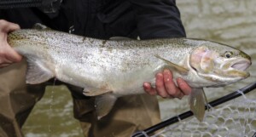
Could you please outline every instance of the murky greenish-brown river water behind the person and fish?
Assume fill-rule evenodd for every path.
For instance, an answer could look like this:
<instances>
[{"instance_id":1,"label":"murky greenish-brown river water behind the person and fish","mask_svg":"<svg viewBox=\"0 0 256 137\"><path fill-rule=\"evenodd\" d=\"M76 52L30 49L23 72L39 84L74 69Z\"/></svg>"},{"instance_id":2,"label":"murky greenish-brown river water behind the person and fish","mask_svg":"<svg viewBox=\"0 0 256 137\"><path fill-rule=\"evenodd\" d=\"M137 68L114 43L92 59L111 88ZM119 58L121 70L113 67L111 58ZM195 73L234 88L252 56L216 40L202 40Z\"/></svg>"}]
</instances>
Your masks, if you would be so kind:
<instances>
[{"instance_id":1,"label":"murky greenish-brown river water behind the person and fish","mask_svg":"<svg viewBox=\"0 0 256 137\"><path fill-rule=\"evenodd\" d=\"M207 88L208 100L218 99L248 83L256 81L256 1L254 0L177 0L187 37L226 43L252 57L248 69L251 77L225 88ZM256 98L256 91L250 93ZM187 100L162 100L162 119L173 117L189 106ZM82 136L79 123L73 118L73 103L64 86L48 87L44 98L33 109L23 127L27 137Z\"/></svg>"}]
</instances>

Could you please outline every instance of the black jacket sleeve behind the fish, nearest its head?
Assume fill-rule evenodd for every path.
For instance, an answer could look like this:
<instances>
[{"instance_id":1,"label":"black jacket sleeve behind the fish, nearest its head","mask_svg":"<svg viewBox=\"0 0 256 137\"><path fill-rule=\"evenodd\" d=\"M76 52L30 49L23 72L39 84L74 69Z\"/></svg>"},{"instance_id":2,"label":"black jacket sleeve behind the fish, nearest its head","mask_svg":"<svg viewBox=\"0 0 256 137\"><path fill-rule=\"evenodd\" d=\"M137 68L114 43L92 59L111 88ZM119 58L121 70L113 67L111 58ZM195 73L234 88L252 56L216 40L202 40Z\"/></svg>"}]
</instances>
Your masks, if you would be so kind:
<instances>
[{"instance_id":1,"label":"black jacket sleeve behind the fish, nearest its head","mask_svg":"<svg viewBox=\"0 0 256 137\"><path fill-rule=\"evenodd\" d=\"M130 0L142 39L186 37L175 0Z\"/></svg>"}]
</instances>

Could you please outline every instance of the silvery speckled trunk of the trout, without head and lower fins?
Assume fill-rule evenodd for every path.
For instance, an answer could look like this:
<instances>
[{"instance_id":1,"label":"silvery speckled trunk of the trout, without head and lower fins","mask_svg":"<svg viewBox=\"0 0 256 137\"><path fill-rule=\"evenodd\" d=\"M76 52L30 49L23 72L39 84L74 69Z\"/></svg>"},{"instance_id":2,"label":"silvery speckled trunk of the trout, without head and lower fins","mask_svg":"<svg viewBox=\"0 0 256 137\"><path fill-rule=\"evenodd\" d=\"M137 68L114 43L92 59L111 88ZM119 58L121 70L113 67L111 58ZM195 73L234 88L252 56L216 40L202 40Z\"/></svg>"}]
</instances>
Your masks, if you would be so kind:
<instances>
[{"instance_id":1,"label":"silvery speckled trunk of the trout, without head and lower fins","mask_svg":"<svg viewBox=\"0 0 256 137\"><path fill-rule=\"evenodd\" d=\"M168 60L178 63L196 47L184 42L182 38L107 41L38 30L20 30L9 35L9 43L15 50L48 69L51 77L82 88L105 87L117 94L131 94L135 85L134 94L143 93L143 82L154 82L154 74L162 71L165 64L154 55L168 56ZM40 79L27 79L27 83L38 81L41 83ZM119 93L129 85L129 93Z\"/></svg>"}]
</instances>

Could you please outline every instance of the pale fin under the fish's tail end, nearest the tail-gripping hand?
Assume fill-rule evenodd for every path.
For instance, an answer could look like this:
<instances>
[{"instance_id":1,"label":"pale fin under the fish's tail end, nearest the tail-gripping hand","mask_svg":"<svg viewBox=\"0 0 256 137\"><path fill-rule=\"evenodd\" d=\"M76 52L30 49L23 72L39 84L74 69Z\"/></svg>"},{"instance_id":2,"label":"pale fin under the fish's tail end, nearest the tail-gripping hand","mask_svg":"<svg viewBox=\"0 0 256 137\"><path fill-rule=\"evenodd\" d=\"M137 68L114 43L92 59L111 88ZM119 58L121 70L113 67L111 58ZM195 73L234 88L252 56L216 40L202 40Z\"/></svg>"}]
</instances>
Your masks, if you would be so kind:
<instances>
[{"instance_id":1,"label":"pale fin under the fish's tail end, nearest the tail-gripping hand","mask_svg":"<svg viewBox=\"0 0 256 137\"><path fill-rule=\"evenodd\" d=\"M44 67L40 62L27 59L26 83L44 83L52 77L54 74L49 68Z\"/></svg>"}]
</instances>

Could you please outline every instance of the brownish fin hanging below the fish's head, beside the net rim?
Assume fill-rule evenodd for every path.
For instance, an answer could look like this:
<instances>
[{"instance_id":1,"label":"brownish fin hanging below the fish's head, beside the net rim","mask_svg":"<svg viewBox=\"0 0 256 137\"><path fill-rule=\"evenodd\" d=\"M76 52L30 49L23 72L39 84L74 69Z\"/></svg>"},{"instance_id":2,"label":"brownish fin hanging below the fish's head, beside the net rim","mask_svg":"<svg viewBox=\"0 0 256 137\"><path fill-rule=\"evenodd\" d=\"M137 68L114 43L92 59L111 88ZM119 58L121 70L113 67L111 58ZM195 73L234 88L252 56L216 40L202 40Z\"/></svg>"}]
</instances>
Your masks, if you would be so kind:
<instances>
[{"instance_id":1,"label":"brownish fin hanging below the fish's head, beside the net rim","mask_svg":"<svg viewBox=\"0 0 256 137\"><path fill-rule=\"evenodd\" d=\"M203 121L205 116L205 99L203 88L192 88L189 96L189 105L194 116L200 121Z\"/></svg>"}]
</instances>

